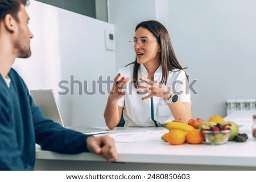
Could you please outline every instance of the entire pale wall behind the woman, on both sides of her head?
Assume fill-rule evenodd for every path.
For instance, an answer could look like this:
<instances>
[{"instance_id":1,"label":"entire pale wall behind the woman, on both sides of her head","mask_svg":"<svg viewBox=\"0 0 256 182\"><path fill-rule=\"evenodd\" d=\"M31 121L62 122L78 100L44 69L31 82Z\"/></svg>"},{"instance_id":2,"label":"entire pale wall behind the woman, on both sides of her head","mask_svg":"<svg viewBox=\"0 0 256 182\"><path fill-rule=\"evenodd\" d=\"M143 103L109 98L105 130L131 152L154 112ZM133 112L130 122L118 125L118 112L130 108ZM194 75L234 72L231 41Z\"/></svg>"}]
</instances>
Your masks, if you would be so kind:
<instances>
[{"instance_id":1,"label":"entire pale wall behind the woman, on both sides of her head","mask_svg":"<svg viewBox=\"0 0 256 182\"><path fill-rule=\"evenodd\" d=\"M110 2L117 67L134 61L127 40L142 20L167 27L180 64L188 66L192 116L226 116L227 99L256 98L256 2L253 0L155 0Z\"/></svg>"}]
</instances>

